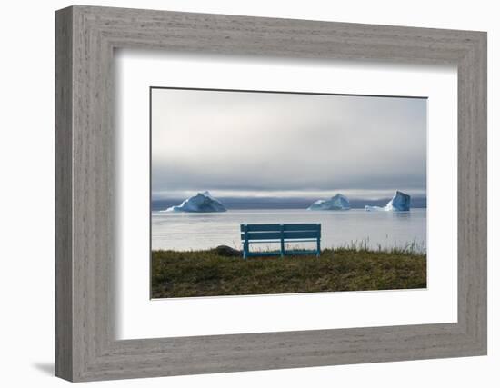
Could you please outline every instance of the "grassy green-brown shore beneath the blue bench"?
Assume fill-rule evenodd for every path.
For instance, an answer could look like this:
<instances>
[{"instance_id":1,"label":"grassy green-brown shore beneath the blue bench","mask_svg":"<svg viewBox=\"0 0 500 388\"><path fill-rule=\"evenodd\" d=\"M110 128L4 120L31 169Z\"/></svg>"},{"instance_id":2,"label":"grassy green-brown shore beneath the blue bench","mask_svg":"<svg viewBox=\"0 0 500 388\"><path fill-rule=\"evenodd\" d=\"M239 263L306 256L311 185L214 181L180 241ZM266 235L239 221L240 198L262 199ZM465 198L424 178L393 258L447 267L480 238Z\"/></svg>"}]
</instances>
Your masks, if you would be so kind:
<instances>
[{"instance_id":1,"label":"grassy green-brown shore beneath the blue bench","mask_svg":"<svg viewBox=\"0 0 500 388\"><path fill-rule=\"evenodd\" d=\"M325 249L319 257L227 257L153 251L152 297L320 293L425 288L426 255L412 250Z\"/></svg>"}]
</instances>

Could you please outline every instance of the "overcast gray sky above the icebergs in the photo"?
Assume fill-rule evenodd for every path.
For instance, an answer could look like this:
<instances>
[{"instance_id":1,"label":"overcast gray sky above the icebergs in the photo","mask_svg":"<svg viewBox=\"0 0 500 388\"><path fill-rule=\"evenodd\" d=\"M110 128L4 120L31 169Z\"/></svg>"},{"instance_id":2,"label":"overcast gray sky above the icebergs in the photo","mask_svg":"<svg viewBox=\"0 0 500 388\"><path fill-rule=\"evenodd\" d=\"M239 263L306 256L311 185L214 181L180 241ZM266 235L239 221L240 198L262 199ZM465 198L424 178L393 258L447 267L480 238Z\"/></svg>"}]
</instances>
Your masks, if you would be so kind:
<instances>
[{"instance_id":1,"label":"overcast gray sky above the icebergs in the photo","mask_svg":"<svg viewBox=\"0 0 500 388\"><path fill-rule=\"evenodd\" d=\"M426 100L152 91L153 199L425 196Z\"/></svg>"}]
</instances>

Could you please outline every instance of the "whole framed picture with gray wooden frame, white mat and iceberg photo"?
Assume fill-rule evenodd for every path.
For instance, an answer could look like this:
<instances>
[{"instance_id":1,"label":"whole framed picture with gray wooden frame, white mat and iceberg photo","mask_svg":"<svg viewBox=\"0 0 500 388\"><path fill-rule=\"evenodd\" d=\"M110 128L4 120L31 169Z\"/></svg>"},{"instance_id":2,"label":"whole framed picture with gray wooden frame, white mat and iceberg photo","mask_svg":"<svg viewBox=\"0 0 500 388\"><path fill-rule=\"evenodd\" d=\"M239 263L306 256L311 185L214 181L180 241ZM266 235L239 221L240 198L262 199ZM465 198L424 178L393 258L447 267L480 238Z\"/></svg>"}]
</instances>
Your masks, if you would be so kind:
<instances>
[{"instance_id":1,"label":"whole framed picture with gray wooden frame, white mat and iceberg photo","mask_svg":"<svg viewBox=\"0 0 500 388\"><path fill-rule=\"evenodd\" d=\"M486 353L486 34L55 13L55 373Z\"/></svg>"}]
</instances>

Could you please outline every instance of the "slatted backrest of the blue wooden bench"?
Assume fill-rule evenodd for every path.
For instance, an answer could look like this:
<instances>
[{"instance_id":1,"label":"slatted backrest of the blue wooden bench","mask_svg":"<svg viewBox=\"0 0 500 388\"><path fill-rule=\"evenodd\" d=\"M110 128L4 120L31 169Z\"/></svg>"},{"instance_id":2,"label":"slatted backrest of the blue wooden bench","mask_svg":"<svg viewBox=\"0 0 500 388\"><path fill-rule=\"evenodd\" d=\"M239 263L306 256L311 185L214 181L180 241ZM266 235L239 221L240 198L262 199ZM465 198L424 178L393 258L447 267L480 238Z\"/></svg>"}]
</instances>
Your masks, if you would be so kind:
<instances>
[{"instance_id":1,"label":"slatted backrest of the blue wooden bench","mask_svg":"<svg viewBox=\"0 0 500 388\"><path fill-rule=\"evenodd\" d=\"M241 239L246 241L321 237L321 224L242 224L240 230Z\"/></svg>"}]
</instances>

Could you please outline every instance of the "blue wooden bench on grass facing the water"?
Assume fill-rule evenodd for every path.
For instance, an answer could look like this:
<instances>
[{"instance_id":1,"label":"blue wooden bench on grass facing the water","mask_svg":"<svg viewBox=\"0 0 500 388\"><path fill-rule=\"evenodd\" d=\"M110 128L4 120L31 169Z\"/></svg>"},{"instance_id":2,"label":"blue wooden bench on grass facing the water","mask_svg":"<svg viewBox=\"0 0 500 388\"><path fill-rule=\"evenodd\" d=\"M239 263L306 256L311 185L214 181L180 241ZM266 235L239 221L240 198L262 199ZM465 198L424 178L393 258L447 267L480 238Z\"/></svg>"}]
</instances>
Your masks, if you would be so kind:
<instances>
[{"instance_id":1,"label":"blue wooden bench on grass facing the water","mask_svg":"<svg viewBox=\"0 0 500 388\"><path fill-rule=\"evenodd\" d=\"M285 254L315 254L321 252L321 224L242 224L243 258L249 256L285 256ZM316 243L315 250L286 251L285 243ZM280 243L279 251L250 252L250 244Z\"/></svg>"}]
</instances>

